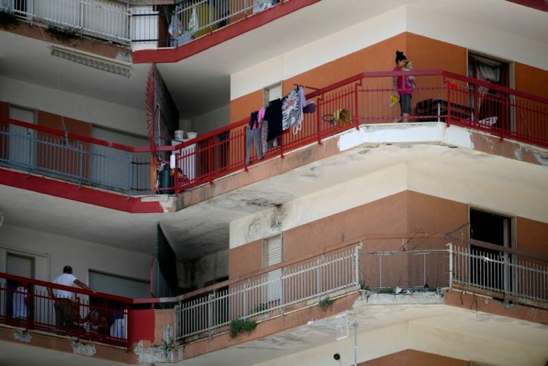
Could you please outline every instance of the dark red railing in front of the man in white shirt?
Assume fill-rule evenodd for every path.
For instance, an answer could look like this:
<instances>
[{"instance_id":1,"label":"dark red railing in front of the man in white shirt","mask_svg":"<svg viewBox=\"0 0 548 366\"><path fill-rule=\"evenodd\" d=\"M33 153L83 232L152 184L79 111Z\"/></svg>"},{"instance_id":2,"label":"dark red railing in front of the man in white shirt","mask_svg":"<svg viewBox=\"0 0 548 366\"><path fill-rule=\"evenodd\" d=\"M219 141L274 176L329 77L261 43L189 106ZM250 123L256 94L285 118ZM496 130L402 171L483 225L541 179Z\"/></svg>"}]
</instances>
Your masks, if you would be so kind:
<instances>
[{"instance_id":1,"label":"dark red railing in front of the man in white shirt","mask_svg":"<svg viewBox=\"0 0 548 366\"><path fill-rule=\"evenodd\" d=\"M73 301L47 289L71 291ZM128 297L0 273L0 323L129 348Z\"/></svg>"}]
</instances>

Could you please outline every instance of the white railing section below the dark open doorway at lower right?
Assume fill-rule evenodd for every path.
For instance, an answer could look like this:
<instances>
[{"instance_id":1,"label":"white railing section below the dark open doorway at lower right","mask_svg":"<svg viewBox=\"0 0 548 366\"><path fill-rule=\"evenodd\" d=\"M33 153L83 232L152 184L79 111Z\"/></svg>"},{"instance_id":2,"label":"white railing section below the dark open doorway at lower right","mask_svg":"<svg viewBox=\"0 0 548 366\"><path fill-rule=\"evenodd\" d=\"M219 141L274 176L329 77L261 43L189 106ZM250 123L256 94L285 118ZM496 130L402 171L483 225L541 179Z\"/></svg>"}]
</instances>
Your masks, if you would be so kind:
<instances>
[{"instance_id":1,"label":"white railing section below the dark open doorway at lower right","mask_svg":"<svg viewBox=\"0 0 548 366\"><path fill-rule=\"evenodd\" d=\"M548 302L548 266L506 252L454 247L453 284L520 302Z\"/></svg>"}]
</instances>

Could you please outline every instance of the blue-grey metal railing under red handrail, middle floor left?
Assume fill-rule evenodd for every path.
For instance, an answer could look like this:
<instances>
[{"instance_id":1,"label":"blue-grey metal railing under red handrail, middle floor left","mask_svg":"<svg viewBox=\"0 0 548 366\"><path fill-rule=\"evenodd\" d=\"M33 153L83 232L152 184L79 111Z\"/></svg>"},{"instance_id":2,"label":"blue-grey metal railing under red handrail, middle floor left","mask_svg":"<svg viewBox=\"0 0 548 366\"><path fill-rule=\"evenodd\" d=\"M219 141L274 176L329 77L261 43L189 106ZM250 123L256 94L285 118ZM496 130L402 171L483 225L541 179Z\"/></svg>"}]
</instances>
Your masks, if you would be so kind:
<instances>
[{"instance_id":1,"label":"blue-grey metal railing under red handrail, middle floor left","mask_svg":"<svg viewBox=\"0 0 548 366\"><path fill-rule=\"evenodd\" d=\"M150 191L150 156L0 126L0 166L68 182L138 195Z\"/></svg>"}]
</instances>

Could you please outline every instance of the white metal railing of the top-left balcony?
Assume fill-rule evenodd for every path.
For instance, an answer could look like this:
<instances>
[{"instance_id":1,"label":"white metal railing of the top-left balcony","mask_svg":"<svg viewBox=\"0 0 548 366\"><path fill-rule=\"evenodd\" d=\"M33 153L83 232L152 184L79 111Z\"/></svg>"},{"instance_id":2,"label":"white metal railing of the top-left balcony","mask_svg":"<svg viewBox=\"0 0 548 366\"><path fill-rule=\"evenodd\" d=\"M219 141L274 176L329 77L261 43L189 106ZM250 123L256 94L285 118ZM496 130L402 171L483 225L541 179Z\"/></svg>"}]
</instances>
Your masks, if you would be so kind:
<instances>
[{"instance_id":1,"label":"white metal railing of the top-left balcony","mask_svg":"<svg viewBox=\"0 0 548 366\"><path fill-rule=\"evenodd\" d=\"M0 8L24 21L58 25L129 45L129 5L109 0L0 0Z\"/></svg>"}]
</instances>

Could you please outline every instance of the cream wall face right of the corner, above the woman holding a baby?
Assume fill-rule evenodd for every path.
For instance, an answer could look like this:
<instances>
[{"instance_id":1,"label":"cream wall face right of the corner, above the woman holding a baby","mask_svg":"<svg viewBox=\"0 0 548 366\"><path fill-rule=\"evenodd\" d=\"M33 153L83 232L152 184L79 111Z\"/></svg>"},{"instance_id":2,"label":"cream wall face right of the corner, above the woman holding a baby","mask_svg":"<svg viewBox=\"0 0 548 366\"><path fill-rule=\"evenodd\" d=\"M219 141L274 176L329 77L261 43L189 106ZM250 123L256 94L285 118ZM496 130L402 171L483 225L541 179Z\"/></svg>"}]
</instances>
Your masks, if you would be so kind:
<instances>
[{"instance_id":1,"label":"cream wall face right of the corner, above the woman holding a baby","mask_svg":"<svg viewBox=\"0 0 548 366\"><path fill-rule=\"evenodd\" d=\"M545 12L499 0L411 1L406 12L408 32L548 70L545 33L530 29Z\"/></svg>"}]
</instances>

